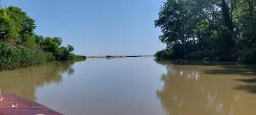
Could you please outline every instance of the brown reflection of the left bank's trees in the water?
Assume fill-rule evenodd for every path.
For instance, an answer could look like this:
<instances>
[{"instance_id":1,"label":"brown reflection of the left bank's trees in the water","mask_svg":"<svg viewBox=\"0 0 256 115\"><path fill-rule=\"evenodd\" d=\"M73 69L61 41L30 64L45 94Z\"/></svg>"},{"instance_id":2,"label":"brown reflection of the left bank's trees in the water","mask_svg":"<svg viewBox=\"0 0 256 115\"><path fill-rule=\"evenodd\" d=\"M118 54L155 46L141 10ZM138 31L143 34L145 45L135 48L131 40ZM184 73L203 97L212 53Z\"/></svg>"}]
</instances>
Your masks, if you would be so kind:
<instances>
[{"instance_id":1,"label":"brown reflection of the left bank's trees in the water","mask_svg":"<svg viewBox=\"0 0 256 115\"><path fill-rule=\"evenodd\" d=\"M45 65L21 68L0 72L0 88L4 92L17 93L18 95L35 100L35 89L44 84L62 81L63 73L74 73L74 62L54 62Z\"/></svg>"}]
</instances>

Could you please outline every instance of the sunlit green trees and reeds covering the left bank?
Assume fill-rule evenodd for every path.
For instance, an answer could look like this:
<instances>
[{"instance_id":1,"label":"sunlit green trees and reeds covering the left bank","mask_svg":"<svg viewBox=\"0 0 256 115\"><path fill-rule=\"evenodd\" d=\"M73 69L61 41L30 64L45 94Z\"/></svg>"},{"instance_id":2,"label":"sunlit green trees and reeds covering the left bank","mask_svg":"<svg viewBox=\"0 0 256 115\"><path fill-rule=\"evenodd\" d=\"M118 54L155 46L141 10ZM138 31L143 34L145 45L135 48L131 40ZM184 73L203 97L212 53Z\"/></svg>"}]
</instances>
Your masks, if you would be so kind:
<instances>
[{"instance_id":1,"label":"sunlit green trees and reeds covering the left bank","mask_svg":"<svg viewBox=\"0 0 256 115\"><path fill-rule=\"evenodd\" d=\"M15 6L0 8L0 70L10 70L49 61L81 61L74 47L61 46L60 37L35 34L35 20Z\"/></svg>"}]
</instances>

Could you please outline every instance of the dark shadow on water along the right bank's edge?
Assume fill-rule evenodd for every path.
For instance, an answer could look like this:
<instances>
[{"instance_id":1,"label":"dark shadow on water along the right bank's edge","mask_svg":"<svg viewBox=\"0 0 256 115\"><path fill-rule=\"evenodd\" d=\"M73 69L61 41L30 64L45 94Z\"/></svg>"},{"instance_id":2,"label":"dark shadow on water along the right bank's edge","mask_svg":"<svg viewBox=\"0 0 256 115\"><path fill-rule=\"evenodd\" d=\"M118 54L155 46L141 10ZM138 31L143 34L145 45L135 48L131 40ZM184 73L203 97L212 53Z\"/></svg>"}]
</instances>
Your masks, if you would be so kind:
<instances>
[{"instance_id":1,"label":"dark shadow on water along the right bank's edge","mask_svg":"<svg viewBox=\"0 0 256 115\"><path fill-rule=\"evenodd\" d=\"M160 65L170 65L171 61L156 61ZM242 82L242 85L237 85L234 89L248 91L249 93L256 93L256 66L238 65L238 63L220 63L202 61L186 61L185 63L174 62L175 65L202 65L202 66L221 66L221 68L214 68L211 70L204 70L207 74L212 75L241 75L242 79L234 79L234 81Z\"/></svg>"}]
</instances>

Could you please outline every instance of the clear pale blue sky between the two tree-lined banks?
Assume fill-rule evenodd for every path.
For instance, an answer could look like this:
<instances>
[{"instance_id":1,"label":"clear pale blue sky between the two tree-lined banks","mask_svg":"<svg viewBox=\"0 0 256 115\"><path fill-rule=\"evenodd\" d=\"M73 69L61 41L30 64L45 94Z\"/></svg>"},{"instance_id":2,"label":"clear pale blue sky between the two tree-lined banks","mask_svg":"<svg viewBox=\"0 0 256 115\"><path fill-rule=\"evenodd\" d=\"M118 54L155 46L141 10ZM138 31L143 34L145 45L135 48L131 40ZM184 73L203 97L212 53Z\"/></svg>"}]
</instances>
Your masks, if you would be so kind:
<instances>
[{"instance_id":1,"label":"clear pale blue sky between the two tree-lined banks","mask_svg":"<svg viewBox=\"0 0 256 115\"><path fill-rule=\"evenodd\" d=\"M154 54L166 45L154 27L164 0L2 0L36 22L36 34L60 36L86 56Z\"/></svg>"}]
</instances>

